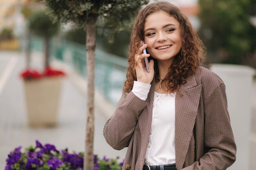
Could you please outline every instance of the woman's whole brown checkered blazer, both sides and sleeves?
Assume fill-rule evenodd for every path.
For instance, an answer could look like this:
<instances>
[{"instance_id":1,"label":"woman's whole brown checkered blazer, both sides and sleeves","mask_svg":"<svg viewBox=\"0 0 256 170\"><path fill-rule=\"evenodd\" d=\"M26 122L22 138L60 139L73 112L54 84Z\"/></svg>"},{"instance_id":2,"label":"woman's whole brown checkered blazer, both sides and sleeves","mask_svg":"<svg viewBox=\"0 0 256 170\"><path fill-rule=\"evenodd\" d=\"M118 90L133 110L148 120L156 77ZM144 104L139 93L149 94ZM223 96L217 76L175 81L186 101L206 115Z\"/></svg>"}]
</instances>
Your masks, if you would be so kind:
<instances>
[{"instance_id":1,"label":"woman's whole brown checkered blazer, both sides and sleeves","mask_svg":"<svg viewBox=\"0 0 256 170\"><path fill-rule=\"evenodd\" d=\"M122 170L142 170L148 145L155 82L146 101L125 93L106 122L103 135L112 148L128 147ZM177 170L225 170L236 160L225 85L204 67L188 77L175 98Z\"/></svg>"}]
</instances>

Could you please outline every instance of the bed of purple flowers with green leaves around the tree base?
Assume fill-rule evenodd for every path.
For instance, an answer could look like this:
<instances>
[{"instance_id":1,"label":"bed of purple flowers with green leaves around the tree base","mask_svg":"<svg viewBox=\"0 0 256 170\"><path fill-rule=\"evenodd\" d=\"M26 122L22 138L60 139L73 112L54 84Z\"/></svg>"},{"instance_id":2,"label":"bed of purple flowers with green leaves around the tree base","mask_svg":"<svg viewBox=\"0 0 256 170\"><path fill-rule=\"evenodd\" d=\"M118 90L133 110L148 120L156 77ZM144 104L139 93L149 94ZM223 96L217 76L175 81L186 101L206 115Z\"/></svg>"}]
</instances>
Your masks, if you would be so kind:
<instances>
[{"instance_id":1,"label":"bed of purple flowers with green leaves around the tree base","mask_svg":"<svg viewBox=\"0 0 256 170\"><path fill-rule=\"evenodd\" d=\"M83 152L58 151L54 145L44 146L36 141L36 147L29 146L21 152L21 146L10 152L4 170L83 170ZM116 159L99 159L94 155L94 170L121 170L123 162Z\"/></svg>"}]
</instances>

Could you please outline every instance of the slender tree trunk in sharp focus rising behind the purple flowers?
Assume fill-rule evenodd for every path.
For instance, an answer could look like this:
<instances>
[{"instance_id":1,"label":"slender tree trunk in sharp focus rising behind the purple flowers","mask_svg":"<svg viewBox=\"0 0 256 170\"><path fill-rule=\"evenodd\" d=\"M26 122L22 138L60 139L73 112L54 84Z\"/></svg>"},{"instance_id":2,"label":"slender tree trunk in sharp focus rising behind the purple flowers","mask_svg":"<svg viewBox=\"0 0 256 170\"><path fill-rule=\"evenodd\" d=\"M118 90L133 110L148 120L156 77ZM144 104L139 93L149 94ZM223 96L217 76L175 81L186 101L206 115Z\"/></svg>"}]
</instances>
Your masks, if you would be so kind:
<instances>
[{"instance_id":1,"label":"slender tree trunk in sharp focus rising behind the purple flowers","mask_svg":"<svg viewBox=\"0 0 256 170\"><path fill-rule=\"evenodd\" d=\"M85 132L85 154L83 170L93 170L93 138L94 138L94 61L96 47L95 20L86 24L86 63L87 63L87 123Z\"/></svg>"}]
</instances>

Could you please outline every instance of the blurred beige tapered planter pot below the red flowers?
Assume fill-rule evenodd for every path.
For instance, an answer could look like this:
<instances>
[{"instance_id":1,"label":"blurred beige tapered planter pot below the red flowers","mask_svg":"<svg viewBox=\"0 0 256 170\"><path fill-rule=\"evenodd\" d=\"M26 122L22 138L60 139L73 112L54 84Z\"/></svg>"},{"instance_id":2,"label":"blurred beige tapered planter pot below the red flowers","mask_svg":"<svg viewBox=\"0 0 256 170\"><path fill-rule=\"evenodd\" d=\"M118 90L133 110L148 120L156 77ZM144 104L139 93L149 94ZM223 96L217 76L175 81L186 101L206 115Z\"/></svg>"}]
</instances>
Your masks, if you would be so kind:
<instances>
[{"instance_id":1,"label":"blurred beige tapered planter pot below the red flowers","mask_svg":"<svg viewBox=\"0 0 256 170\"><path fill-rule=\"evenodd\" d=\"M62 76L24 80L29 126L55 126Z\"/></svg>"}]
</instances>

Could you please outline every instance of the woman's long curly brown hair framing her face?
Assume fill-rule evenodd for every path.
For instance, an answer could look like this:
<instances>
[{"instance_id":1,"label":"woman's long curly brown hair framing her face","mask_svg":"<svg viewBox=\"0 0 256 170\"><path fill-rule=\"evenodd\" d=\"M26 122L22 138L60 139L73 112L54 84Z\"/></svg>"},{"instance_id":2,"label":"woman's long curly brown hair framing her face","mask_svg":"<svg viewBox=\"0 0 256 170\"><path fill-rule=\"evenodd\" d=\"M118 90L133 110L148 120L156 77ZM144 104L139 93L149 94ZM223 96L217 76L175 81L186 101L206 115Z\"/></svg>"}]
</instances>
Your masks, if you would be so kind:
<instances>
[{"instance_id":1,"label":"woman's long curly brown hair framing her face","mask_svg":"<svg viewBox=\"0 0 256 170\"><path fill-rule=\"evenodd\" d=\"M140 41L144 40L144 24L146 17L157 11L165 11L173 16L180 23L182 47L180 52L174 57L174 60L169 67L169 71L160 87L168 93L173 93L179 90L179 86L186 83L186 78L193 75L202 62L204 57L204 46L198 35L193 30L188 18L180 11L178 7L169 2L155 2L149 4L139 11L135 23L133 25L132 34L130 37L129 53L128 53L128 69L126 72L126 80L124 82L124 91L129 93L132 90L136 76L136 61L135 54L140 48ZM199 56L199 52L202 54ZM160 81L157 60L154 60L155 82Z\"/></svg>"}]
</instances>

